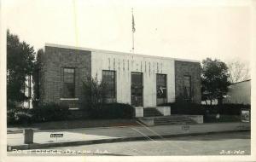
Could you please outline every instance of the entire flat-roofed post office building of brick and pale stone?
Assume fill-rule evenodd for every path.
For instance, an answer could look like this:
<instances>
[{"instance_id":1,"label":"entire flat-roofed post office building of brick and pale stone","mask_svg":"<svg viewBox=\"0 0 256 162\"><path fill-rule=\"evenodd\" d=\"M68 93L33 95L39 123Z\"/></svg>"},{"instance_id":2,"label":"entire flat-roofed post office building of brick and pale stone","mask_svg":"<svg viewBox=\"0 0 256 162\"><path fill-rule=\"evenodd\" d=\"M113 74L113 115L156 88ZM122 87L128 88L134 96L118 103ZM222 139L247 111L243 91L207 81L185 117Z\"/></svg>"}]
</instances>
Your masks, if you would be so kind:
<instances>
[{"instance_id":1,"label":"entire flat-roofed post office building of brick and pale stone","mask_svg":"<svg viewBox=\"0 0 256 162\"><path fill-rule=\"evenodd\" d=\"M41 103L81 107L88 76L108 85L108 102L156 107L181 97L201 103L200 61L46 43L40 64Z\"/></svg>"}]
</instances>

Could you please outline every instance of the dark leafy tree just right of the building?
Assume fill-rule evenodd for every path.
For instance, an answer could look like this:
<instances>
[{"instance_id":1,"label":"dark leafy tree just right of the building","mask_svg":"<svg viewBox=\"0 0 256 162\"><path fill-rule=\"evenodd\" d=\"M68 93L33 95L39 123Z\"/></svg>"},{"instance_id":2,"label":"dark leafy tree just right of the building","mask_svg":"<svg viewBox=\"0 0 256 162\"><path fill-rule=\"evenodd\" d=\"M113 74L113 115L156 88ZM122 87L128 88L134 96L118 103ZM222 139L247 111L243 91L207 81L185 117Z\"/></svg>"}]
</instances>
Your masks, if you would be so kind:
<instances>
[{"instance_id":1,"label":"dark leafy tree just right of the building","mask_svg":"<svg viewBox=\"0 0 256 162\"><path fill-rule=\"evenodd\" d=\"M201 66L201 84L202 84L202 100L212 101L218 100L218 104L222 104L224 95L228 92L229 71L226 64L219 60L207 58L202 61Z\"/></svg>"}]
</instances>

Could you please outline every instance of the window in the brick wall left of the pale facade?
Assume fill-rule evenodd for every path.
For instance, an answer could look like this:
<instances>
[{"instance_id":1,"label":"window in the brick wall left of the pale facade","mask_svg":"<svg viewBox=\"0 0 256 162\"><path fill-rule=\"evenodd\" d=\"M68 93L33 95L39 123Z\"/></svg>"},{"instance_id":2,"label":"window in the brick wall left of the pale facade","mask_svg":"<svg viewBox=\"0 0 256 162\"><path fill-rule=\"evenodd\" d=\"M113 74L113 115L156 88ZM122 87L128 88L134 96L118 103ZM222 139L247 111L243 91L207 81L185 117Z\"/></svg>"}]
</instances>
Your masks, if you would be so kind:
<instances>
[{"instance_id":1,"label":"window in the brick wall left of the pale facade","mask_svg":"<svg viewBox=\"0 0 256 162\"><path fill-rule=\"evenodd\" d=\"M64 87L63 87L63 97L64 98L74 98L75 97L75 69L74 68L64 68Z\"/></svg>"}]
</instances>

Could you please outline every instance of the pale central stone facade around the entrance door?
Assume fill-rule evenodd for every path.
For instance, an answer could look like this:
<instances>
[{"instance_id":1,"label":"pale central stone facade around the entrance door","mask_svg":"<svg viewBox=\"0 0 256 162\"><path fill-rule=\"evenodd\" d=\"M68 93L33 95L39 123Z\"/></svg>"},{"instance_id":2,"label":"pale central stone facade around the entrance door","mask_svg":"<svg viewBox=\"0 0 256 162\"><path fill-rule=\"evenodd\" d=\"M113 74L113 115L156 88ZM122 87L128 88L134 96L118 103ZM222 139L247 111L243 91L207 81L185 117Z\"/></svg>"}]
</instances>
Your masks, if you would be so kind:
<instances>
[{"instance_id":1,"label":"pale central stone facade around the entrance door","mask_svg":"<svg viewBox=\"0 0 256 162\"><path fill-rule=\"evenodd\" d=\"M131 72L143 75L143 107L157 106L156 75L166 74L166 102L175 101L174 59L114 51L91 52L91 75L102 79L102 70L116 72L116 101L131 104Z\"/></svg>"}]
</instances>

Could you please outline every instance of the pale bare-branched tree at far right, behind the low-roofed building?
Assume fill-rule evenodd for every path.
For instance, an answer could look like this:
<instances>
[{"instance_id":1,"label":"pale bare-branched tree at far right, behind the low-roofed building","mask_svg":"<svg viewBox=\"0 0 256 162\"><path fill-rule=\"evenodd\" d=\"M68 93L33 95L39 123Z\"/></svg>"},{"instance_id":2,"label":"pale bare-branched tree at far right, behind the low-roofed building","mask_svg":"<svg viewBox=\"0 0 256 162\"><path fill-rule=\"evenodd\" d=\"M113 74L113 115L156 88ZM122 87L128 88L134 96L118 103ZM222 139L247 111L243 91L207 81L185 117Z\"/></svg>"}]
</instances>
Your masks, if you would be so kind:
<instances>
[{"instance_id":1,"label":"pale bare-branched tree at far right, behind the low-roofed building","mask_svg":"<svg viewBox=\"0 0 256 162\"><path fill-rule=\"evenodd\" d=\"M228 63L230 83L237 83L250 78L250 71L247 64L241 61L233 61Z\"/></svg>"}]
</instances>

